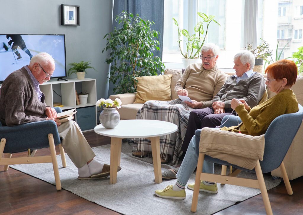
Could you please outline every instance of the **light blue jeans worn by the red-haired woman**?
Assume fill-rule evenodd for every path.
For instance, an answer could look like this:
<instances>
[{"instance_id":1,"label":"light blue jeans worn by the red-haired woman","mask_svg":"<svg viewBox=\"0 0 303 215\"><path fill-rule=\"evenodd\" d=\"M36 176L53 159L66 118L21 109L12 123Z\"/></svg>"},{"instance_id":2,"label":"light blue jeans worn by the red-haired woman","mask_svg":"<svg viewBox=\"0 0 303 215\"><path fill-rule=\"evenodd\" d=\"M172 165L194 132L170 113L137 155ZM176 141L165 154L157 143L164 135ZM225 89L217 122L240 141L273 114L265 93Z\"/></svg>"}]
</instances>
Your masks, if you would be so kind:
<instances>
[{"instance_id":1,"label":"light blue jeans worn by the red-haired woman","mask_svg":"<svg viewBox=\"0 0 303 215\"><path fill-rule=\"evenodd\" d=\"M197 167L199 157L199 143L195 141L195 135L191 138L184 159L176 175L178 181L187 184L188 179ZM214 174L214 163L204 161L202 172Z\"/></svg>"}]
</instances>

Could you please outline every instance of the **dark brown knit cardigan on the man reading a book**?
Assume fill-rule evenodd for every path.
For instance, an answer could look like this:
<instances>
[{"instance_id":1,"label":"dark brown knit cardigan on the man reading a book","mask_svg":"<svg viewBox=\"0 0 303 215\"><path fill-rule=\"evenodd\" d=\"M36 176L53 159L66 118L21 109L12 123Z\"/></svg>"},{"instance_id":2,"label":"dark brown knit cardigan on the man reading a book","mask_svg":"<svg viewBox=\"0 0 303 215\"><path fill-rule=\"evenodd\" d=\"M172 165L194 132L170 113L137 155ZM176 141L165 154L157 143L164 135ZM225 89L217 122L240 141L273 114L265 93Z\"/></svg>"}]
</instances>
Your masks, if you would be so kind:
<instances>
[{"instance_id":1,"label":"dark brown knit cardigan on the man reading a book","mask_svg":"<svg viewBox=\"0 0 303 215\"><path fill-rule=\"evenodd\" d=\"M45 95L41 101L25 67L11 73L3 82L0 93L0 122L2 125L22 125L46 120Z\"/></svg>"}]
</instances>

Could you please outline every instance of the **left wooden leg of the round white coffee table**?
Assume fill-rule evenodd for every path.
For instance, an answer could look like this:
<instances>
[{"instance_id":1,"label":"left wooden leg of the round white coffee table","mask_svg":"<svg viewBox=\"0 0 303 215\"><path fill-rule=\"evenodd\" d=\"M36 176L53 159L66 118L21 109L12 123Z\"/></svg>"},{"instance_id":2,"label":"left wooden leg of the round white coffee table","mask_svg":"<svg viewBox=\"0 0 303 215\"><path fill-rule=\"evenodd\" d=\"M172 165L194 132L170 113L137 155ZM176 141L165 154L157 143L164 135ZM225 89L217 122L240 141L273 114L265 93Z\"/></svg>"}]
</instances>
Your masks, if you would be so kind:
<instances>
[{"instance_id":1,"label":"left wooden leg of the round white coffee table","mask_svg":"<svg viewBox=\"0 0 303 215\"><path fill-rule=\"evenodd\" d=\"M117 183L118 165L120 166L122 138L111 137L111 162L109 172L109 183Z\"/></svg>"}]
</instances>

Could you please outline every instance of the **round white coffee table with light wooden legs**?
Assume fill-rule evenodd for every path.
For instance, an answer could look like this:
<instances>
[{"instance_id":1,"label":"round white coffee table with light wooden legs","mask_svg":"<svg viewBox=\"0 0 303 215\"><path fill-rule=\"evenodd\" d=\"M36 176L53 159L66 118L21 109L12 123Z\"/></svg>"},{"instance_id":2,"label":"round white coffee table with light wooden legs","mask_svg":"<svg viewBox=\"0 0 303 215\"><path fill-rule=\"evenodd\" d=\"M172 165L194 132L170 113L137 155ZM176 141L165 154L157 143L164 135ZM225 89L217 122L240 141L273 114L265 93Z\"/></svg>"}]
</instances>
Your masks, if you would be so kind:
<instances>
[{"instance_id":1,"label":"round white coffee table with light wooden legs","mask_svg":"<svg viewBox=\"0 0 303 215\"><path fill-rule=\"evenodd\" d=\"M95 127L95 132L111 137L111 158L109 182L117 182L117 170L120 166L121 143L123 138L148 138L151 140L151 152L154 163L155 182L162 182L160 162L160 141L162 135L177 131L177 125L158 120L132 119L121 120L115 128L104 128L102 125Z\"/></svg>"}]
</instances>

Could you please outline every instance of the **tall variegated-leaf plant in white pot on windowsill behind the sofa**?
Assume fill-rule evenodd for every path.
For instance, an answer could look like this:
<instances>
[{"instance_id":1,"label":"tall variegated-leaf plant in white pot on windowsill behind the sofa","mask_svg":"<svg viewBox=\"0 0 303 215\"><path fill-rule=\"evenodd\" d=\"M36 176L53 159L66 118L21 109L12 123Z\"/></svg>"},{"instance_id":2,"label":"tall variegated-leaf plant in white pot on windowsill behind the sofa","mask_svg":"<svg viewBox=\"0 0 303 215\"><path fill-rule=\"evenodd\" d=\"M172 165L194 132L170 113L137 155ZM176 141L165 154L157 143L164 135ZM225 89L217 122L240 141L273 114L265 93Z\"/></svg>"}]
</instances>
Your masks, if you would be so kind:
<instances>
[{"instance_id":1,"label":"tall variegated-leaf plant in white pot on windowsill behind the sofa","mask_svg":"<svg viewBox=\"0 0 303 215\"><path fill-rule=\"evenodd\" d=\"M172 18L175 22L175 25L178 27L178 43L179 43L179 49L184 58L182 58L182 63L183 63L183 68L186 69L189 64L191 63L200 63L200 53L201 53L201 48L204 45L206 36L208 34L208 26L212 21L217 23L219 26L219 22L217 22L214 19L214 15L209 15L207 16L205 13L200 13L198 12L198 15L203 18L202 22L198 22L197 25L194 28L195 34L189 35L188 31L186 29L180 30L179 29L179 24L176 19ZM207 23L207 28L205 31L205 36L204 39L202 40L202 35L204 34L204 29L203 29L203 23ZM186 44L186 50L182 51L181 48L181 41L183 41L181 37L181 33L187 38L185 40Z\"/></svg>"}]
</instances>

